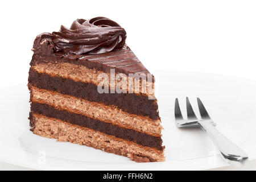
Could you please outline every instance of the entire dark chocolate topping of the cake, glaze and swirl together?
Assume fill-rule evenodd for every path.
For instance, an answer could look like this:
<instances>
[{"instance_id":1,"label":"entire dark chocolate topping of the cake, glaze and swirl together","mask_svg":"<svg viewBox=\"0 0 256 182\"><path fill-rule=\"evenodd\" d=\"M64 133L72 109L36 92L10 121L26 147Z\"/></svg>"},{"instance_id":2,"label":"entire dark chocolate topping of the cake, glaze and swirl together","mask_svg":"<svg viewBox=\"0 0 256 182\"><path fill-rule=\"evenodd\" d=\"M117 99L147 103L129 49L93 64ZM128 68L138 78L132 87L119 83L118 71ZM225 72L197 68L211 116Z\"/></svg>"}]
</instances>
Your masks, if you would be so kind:
<instances>
[{"instance_id":1,"label":"entire dark chocolate topping of the cake, glaze and swirl together","mask_svg":"<svg viewBox=\"0 0 256 182\"><path fill-rule=\"evenodd\" d=\"M104 72L114 68L116 73L136 73L147 79L150 72L125 44L125 39L125 30L108 18L77 19L69 29L61 26L60 32L38 35L30 65L63 61ZM154 76L147 81L154 82Z\"/></svg>"}]
</instances>

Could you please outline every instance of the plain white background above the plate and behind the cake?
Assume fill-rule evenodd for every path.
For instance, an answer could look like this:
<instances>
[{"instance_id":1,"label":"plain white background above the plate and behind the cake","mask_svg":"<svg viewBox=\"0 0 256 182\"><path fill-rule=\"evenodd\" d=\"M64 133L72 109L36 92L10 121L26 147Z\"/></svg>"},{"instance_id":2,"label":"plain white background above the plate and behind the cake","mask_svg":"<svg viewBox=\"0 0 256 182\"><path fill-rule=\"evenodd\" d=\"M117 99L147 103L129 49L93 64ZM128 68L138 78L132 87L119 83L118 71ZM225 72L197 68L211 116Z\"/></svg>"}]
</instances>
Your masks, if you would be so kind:
<instances>
[{"instance_id":1,"label":"plain white background above the plate and behind the cake","mask_svg":"<svg viewBox=\"0 0 256 182\"><path fill-rule=\"evenodd\" d=\"M125 28L126 43L150 71L256 80L255 10L256 1L1 1L0 87L27 81L36 35L96 16Z\"/></svg>"}]
</instances>

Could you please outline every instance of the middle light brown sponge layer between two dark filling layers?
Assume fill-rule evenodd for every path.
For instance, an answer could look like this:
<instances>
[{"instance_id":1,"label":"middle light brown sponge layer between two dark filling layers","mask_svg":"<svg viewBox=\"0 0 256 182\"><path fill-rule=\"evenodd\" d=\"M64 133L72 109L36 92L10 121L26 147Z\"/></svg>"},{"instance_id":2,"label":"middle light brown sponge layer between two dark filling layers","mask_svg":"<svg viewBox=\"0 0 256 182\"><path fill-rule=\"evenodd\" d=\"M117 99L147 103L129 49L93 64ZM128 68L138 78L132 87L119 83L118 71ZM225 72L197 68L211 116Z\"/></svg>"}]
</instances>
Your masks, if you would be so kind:
<instances>
[{"instance_id":1,"label":"middle light brown sponge layer between two dark filling layers","mask_svg":"<svg viewBox=\"0 0 256 182\"><path fill-rule=\"evenodd\" d=\"M61 110L86 115L89 118L154 135L155 137L161 136L162 126L160 125L160 119L154 120L150 117L130 114L115 106L106 106L98 102L39 89L33 86L31 88L31 100L32 102L48 104Z\"/></svg>"}]
</instances>

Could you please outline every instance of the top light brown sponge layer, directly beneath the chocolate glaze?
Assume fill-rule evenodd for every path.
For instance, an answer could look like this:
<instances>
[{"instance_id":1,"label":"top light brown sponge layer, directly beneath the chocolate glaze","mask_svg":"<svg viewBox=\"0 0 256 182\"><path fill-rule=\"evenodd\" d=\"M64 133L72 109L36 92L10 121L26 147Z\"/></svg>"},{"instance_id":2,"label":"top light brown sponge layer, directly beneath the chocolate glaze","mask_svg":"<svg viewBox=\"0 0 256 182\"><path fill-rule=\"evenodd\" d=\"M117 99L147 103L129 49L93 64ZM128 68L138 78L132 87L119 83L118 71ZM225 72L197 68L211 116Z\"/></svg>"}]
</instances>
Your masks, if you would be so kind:
<instances>
[{"instance_id":1,"label":"top light brown sponge layer, directly beneath the chocolate glaze","mask_svg":"<svg viewBox=\"0 0 256 182\"><path fill-rule=\"evenodd\" d=\"M76 65L71 63L61 63L60 61L56 61L56 63L51 63L51 62L40 63L32 66L32 68L38 73L46 73L47 75L50 75L50 76L70 78L74 81L80 81L80 82L86 82L86 83L89 82L97 86L99 84L102 84L102 79L103 79L103 78L101 79L98 78L98 76L104 73L96 69L89 69L82 65ZM109 85L109 88L111 88L112 90L115 90L115 86L119 85L121 90L126 90L127 93L137 93L137 94L143 94L143 95L152 96L152 97L154 96L154 82L148 82L146 80L138 81L138 79L127 77L127 75L125 75L124 73L119 74L119 76L121 76L120 80L115 79L115 76L117 76L117 73L115 73L114 77L110 77L110 73L104 73L104 74L108 75L109 80L113 82L113 84L111 84L112 87L110 87L111 81L108 81L106 83L106 85ZM121 82L119 82L122 79L127 80L126 88L122 86ZM131 86L129 86L129 79L131 79L131 82L133 82L133 85L130 84Z\"/></svg>"}]
</instances>

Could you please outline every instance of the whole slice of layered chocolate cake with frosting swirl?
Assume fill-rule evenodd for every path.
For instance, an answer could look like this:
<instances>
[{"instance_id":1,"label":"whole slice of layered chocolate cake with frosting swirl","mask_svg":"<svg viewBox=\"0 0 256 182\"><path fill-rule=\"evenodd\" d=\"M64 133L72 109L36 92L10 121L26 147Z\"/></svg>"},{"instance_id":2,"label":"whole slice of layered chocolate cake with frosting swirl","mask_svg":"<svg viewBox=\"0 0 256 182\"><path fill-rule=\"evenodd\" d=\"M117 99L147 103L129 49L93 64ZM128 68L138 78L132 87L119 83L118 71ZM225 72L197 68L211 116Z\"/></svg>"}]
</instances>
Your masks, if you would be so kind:
<instances>
[{"instance_id":1,"label":"whole slice of layered chocolate cake with frosting swirl","mask_svg":"<svg viewBox=\"0 0 256 182\"><path fill-rule=\"evenodd\" d=\"M135 162L164 160L154 77L104 17L36 37L28 77L34 134Z\"/></svg>"}]
</instances>

